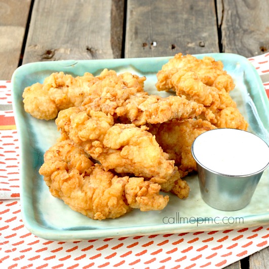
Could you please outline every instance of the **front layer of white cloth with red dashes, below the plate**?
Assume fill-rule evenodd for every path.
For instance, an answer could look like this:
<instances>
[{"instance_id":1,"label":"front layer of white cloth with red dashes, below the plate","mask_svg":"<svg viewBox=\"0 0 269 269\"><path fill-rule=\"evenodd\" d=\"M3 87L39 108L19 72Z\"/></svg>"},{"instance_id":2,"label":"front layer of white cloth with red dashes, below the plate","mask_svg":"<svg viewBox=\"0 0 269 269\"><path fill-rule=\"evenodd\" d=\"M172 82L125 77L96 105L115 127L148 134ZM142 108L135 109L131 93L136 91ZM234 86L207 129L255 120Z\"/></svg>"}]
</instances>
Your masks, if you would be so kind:
<instances>
[{"instance_id":1,"label":"front layer of white cloth with red dashes, below the plate","mask_svg":"<svg viewBox=\"0 0 269 269\"><path fill-rule=\"evenodd\" d=\"M19 200L0 203L3 268L222 268L269 245L269 225L169 236L47 241L24 227Z\"/></svg>"}]
</instances>

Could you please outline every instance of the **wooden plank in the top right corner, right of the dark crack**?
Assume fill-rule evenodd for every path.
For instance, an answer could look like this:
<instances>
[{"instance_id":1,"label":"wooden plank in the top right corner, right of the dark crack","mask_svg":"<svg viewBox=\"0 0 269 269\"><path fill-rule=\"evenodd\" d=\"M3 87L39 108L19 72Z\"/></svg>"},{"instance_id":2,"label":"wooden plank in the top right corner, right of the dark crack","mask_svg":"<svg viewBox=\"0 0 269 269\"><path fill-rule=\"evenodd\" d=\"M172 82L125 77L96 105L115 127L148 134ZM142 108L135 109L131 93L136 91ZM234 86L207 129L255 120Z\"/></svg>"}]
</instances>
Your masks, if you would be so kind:
<instances>
[{"instance_id":1,"label":"wooden plank in the top right corner, right of the dark crack","mask_svg":"<svg viewBox=\"0 0 269 269\"><path fill-rule=\"evenodd\" d=\"M269 51L269 1L217 0L223 52L247 58Z\"/></svg>"}]
</instances>

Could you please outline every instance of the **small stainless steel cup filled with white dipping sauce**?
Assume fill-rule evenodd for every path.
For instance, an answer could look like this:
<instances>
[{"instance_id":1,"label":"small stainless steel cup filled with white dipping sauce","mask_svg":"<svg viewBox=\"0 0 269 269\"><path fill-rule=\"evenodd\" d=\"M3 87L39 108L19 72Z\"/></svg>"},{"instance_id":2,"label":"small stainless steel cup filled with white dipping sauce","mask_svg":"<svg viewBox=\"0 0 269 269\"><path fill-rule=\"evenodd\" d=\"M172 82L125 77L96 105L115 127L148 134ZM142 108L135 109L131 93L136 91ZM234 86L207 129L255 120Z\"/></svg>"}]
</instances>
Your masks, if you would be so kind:
<instances>
[{"instance_id":1,"label":"small stainless steel cup filled with white dipping sauce","mask_svg":"<svg viewBox=\"0 0 269 269\"><path fill-rule=\"evenodd\" d=\"M191 153L197 163L203 200L213 208L246 207L269 165L269 146L258 136L237 129L214 129L199 135Z\"/></svg>"}]
</instances>

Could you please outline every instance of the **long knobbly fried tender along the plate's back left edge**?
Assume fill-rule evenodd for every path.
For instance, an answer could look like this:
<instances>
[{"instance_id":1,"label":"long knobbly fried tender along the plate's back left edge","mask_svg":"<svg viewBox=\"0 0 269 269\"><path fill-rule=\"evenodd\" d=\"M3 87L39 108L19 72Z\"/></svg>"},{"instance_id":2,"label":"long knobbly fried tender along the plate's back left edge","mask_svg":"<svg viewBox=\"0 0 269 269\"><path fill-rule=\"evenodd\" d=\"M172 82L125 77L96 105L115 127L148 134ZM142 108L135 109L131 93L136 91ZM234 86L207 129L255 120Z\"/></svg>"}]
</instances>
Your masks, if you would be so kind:
<instances>
[{"instance_id":1,"label":"long knobbly fried tender along the plate's back left edge","mask_svg":"<svg viewBox=\"0 0 269 269\"><path fill-rule=\"evenodd\" d=\"M86 97L94 99L109 94L126 100L130 95L143 91L145 77L125 72L104 69L99 76L86 72L73 78L63 72L52 73L43 84L36 83L25 88L22 97L24 109L33 117L42 120L56 118L60 110L81 106ZM122 100L121 99L121 100Z\"/></svg>"}]
</instances>

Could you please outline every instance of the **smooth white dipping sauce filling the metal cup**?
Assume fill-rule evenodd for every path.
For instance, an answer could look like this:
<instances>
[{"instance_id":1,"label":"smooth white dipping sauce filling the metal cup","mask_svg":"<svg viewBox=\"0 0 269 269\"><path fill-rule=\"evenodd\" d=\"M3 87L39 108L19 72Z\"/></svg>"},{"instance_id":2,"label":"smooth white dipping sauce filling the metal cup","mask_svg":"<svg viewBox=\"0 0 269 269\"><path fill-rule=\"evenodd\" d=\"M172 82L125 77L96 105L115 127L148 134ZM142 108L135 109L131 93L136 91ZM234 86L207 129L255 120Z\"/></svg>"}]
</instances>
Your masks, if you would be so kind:
<instances>
[{"instance_id":1,"label":"smooth white dipping sauce filling the metal cup","mask_svg":"<svg viewBox=\"0 0 269 269\"><path fill-rule=\"evenodd\" d=\"M203 167L219 174L243 176L265 169L269 147L258 136L237 129L214 129L196 138L193 156Z\"/></svg>"}]
</instances>

